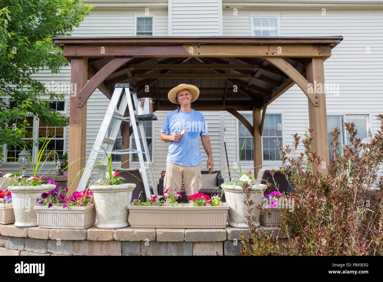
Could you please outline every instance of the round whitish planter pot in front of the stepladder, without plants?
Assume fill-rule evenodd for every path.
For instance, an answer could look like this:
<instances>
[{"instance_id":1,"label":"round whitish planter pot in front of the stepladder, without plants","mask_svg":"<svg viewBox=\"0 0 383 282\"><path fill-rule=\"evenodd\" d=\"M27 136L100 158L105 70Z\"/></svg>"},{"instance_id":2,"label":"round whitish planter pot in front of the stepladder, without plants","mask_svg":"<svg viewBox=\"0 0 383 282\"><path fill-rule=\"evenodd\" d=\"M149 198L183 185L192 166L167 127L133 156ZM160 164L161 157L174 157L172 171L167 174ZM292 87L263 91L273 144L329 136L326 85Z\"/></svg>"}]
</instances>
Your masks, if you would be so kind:
<instances>
[{"instance_id":1,"label":"round whitish planter pot in front of the stepladder, without plants","mask_svg":"<svg viewBox=\"0 0 383 282\"><path fill-rule=\"evenodd\" d=\"M115 229L129 226L128 205L136 184L115 186L91 185L96 205L97 228Z\"/></svg>"}]
</instances>

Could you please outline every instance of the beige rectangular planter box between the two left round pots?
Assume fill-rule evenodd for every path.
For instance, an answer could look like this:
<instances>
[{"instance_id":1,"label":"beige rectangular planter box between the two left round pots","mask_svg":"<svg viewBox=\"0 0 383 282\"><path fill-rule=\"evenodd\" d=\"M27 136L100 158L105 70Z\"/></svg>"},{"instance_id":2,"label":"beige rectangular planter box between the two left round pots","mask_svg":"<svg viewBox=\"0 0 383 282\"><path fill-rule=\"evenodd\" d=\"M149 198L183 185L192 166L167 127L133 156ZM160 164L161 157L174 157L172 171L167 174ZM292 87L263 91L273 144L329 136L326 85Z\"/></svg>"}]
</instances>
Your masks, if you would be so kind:
<instances>
[{"instance_id":1,"label":"beige rectangular planter box between the two left round pots","mask_svg":"<svg viewBox=\"0 0 383 282\"><path fill-rule=\"evenodd\" d=\"M35 206L39 228L85 229L95 225L96 208L92 206Z\"/></svg>"}]
</instances>

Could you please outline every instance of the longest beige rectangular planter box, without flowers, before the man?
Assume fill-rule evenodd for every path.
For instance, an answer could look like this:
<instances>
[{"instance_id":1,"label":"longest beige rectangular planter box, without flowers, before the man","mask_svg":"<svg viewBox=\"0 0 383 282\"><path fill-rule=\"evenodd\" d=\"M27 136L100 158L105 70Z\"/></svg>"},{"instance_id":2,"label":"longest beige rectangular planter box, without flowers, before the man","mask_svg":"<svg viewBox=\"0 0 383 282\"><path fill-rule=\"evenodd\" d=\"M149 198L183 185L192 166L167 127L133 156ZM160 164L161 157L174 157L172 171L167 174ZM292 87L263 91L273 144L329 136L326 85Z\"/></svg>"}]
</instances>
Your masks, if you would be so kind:
<instances>
[{"instance_id":1,"label":"longest beige rectangular planter box, without flowers, before the man","mask_svg":"<svg viewBox=\"0 0 383 282\"><path fill-rule=\"evenodd\" d=\"M229 206L128 206L133 228L225 228Z\"/></svg>"}]
</instances>

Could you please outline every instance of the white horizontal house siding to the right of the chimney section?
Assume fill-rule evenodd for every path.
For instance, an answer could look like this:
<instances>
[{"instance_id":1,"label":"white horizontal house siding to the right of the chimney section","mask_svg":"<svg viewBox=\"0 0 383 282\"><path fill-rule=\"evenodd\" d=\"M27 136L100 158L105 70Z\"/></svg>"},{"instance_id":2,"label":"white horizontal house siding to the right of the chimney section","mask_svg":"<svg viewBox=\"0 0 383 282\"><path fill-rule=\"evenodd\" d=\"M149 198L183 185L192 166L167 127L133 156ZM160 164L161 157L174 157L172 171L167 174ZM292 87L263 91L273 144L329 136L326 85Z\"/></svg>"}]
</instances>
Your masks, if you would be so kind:
<instances>
[{"instance_id":1,"label":"white horizontal house siding to the right of the chimney section","mask_svg":"<svg viewBox=\"0 0 383 282\"><path fill-rule=\"evenodd\" d=\"M369 114L376 133L380 124L374 115L383 112L383 8L326 8L326 15L322 8L238 8L236 16L224 8L223 35L251 35L246 23L251 23L252 15L280 16L281 36L344 36L324 63L325 82L339 83L339 96L326 94L327 115ZM282 114L284 145L293 142L292 134L303 136L309 127L307 98L296 85L273 101L267 113ZM237 144L236 122L225 113L226 133L229 130L236 136L225 135L233 164L238 162L241 145ZM263 165L278 168L280 162ZM241 168L252 167L253 162L241 162Z\"/></svg>"}]
</instances>

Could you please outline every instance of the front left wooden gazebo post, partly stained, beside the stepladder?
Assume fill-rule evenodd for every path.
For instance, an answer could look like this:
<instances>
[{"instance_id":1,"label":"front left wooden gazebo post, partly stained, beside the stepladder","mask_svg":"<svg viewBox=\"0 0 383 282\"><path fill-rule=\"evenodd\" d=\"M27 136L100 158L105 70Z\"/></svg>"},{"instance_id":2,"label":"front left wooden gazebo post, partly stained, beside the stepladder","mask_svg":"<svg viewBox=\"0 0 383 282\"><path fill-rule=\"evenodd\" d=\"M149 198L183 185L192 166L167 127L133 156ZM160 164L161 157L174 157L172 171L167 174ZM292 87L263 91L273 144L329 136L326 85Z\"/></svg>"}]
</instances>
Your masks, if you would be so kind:
<instances>
[{"instance_id":1,"label":"front left wooden gazebo post, partly stained, beside the stepladder","mask_svg":"<svg viewBox=\"0 0 383 282\"><path fill-rule=\"evenodd\" d=\"M68 195L77 189L79 172L85 167L87 134L87 105L78 107L79 93L88 80L88 58L73 58L70 61L69 150L68 150Z\"/></svg>"}]
</instances>

